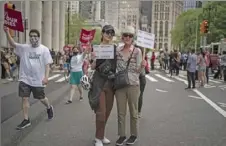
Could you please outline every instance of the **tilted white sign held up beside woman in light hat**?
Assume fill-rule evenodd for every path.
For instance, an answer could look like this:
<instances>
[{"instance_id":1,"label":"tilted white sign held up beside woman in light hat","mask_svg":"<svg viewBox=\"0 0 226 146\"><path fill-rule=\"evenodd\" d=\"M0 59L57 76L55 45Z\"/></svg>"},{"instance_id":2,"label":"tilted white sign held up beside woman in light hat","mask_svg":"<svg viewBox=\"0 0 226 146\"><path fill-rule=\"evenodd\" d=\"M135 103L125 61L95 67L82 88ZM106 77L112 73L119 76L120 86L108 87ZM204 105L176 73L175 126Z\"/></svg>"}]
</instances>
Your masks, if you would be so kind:
<instances>
[{"instance_id":1,"label":"tilted white sign held up beside woman in light hat","mask_svg":"<svg viewBox=\"0 0 226 146\"><path fill-rule=\"evenodd\" d=\"M138 30L137 45L140 47L153 49L155 46L155 34Z\"/></svg>"}]
</instances>

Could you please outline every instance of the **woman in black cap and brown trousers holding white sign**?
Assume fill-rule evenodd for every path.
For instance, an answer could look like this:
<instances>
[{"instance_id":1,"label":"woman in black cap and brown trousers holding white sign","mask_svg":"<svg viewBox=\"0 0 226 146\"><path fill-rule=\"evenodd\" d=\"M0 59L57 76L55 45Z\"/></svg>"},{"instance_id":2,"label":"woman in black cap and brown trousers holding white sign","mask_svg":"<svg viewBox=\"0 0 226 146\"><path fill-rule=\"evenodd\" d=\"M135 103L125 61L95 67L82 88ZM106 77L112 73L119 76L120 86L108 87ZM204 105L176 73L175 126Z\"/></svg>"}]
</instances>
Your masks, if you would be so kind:
<instances>
[{"instance_id":1,"label":"woman in black cap and brown trousers holding white sign","mask_svg":"<svg viewBox=\"0 0 226 146\"><path fill-rule=\"evenodd\" d=\"M101 44L93 46L94 52L91 54L91 68L94 69L95 72L92 77L88 97L90 106L96 114L95 146L103 146L103 144L110 143L105 137L105 126L114 103L113 78L116 71L116 46L112 44L114 35L115 31L111 25L104 26L102 29ZM100 52L98 48L109 48L109 46L113 48L113 58L106 59L106 56L105 58L104 56L101 58L100 54L98 54L98 52ZM103 54L103 52L104 51L101 53ZM112 56L112 54L110 56Z\"/></svg>"}]
</instances>

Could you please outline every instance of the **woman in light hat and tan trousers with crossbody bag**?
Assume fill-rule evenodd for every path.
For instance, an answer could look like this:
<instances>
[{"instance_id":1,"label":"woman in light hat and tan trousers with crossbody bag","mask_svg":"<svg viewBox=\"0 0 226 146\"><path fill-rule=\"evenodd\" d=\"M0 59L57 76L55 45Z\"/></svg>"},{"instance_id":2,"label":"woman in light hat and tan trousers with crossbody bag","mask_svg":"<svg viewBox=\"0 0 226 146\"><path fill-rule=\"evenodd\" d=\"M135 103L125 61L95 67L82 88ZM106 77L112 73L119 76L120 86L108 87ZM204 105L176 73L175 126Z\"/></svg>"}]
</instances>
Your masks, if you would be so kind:
<instances>
[{"instance_id":1,"label":"woman in light hat and tan trousers with crossbody bag","mask_svg":"<svg viewBox=\"0 0 226 146\"><path fill-rule=\"evenodd\" d=\"M123 30L124 45L117 48L117 67L114 79L115 97L118 111L118 134L116 145L134 144L138 136L138 98L140 93L139 76L146 61L141 50L133 45L135 29L128 26ZM143 61L142 61L143 60ZM130 111L130 137L126 138L126 109Z\"/></svg>"}]
</instances>

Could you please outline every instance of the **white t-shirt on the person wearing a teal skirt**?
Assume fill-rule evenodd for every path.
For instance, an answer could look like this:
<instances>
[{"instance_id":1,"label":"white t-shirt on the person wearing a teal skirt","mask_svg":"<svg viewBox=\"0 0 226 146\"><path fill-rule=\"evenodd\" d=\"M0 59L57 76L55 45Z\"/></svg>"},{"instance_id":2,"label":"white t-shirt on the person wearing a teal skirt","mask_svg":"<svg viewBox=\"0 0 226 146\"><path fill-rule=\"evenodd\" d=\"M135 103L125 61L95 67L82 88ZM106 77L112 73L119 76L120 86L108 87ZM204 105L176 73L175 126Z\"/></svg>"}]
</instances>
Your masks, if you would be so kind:
<instances>
[{"instance_id":1,"label":"white t-shirt on the person wearing a teal skirt","mask_svg":"<svg viewBox=\"0 0 226 146\"><path fill-rule=\"evenodd\" d=\"M83 53L71 57L71 72L82 71L82 65L84 61Z\"/></svg>"}]
</instances>

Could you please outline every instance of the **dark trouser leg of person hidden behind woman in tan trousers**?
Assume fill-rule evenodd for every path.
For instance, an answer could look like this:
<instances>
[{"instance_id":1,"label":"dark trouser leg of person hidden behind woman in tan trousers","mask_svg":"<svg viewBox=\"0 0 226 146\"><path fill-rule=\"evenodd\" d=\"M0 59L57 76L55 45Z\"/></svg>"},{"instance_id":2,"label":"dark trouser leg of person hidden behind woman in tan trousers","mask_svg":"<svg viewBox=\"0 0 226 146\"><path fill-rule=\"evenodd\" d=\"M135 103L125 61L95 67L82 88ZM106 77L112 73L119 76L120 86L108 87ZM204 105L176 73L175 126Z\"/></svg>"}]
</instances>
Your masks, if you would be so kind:
<instances>
[{"instance_id":1,"label":"dark trouser leg of person hidden behind woman in tan trousers","mask_svg":"<svg viewBox=\"0 0 226 146\"><path fill-rule=\"evenodd\" d=\"M139 96L139 101L138 101L138 112L141 112L141 108L143 105L143 93L144 89L146 86L146 77L145 76L140 76L140 96Z\"/></svg>"}]
</instances>

